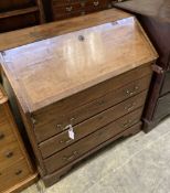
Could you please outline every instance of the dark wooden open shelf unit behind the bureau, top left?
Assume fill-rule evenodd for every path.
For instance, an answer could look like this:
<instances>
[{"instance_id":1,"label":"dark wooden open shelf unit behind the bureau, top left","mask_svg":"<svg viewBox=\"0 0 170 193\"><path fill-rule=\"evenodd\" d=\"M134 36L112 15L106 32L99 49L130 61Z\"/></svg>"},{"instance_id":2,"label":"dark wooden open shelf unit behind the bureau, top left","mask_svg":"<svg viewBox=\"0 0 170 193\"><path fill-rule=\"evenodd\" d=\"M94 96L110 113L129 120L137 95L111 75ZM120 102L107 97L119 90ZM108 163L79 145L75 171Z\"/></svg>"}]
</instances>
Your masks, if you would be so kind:
<instances>
[{"instance_id":1,"label":"dark wooden open shelf unit behind the bureau, top left","mask_svg":"<svg viewBox=\"0 0 170 193\"><path fill-rule=\"evenodd\" d=\"M41 0L1 0L0 33L43 23Z\"/></svg>"}]
</instances>

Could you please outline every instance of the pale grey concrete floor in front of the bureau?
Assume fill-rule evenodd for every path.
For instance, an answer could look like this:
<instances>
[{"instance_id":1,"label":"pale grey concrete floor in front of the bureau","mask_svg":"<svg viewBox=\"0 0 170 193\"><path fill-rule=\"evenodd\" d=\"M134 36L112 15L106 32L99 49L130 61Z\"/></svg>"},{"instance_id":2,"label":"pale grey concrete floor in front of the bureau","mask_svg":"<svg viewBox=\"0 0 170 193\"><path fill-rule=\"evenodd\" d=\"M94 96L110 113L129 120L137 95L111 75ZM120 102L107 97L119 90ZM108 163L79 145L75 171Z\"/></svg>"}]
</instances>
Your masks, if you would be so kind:
<instances>
[{"instance_id":1,"label":"pale grey concrete floor in front of the bureau","mask_svg":"<svg viewBox=\"0 0 170 193\"><path fill-rule=\"evenodd\" d=\"M170 193L170 118L108 146L55 185L40 181L22 193Z\"/></svg>"}]
</instances>

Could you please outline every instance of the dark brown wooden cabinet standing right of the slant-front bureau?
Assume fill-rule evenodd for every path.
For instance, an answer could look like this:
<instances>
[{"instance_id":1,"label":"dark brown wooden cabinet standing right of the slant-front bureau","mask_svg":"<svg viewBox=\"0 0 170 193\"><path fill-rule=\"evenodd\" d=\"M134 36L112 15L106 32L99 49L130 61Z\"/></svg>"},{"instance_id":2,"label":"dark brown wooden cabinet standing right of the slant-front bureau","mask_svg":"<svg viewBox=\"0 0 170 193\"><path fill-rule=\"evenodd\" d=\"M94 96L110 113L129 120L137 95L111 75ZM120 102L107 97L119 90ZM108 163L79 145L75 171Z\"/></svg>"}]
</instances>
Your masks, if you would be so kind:
<instances>
[{"instance_id":1,"label":"dark brown wooden cabinet standing right of the slant-front bureau","mask_svg":"<svg viewBox=\"0 0 170 193\"><path fill-rule=\"evenodd\" d=\"M144 129L149 131L170 115L170 1L131 0L117 7L137 13L160 56L144 114Z\"/></svg>"}]
</instances>

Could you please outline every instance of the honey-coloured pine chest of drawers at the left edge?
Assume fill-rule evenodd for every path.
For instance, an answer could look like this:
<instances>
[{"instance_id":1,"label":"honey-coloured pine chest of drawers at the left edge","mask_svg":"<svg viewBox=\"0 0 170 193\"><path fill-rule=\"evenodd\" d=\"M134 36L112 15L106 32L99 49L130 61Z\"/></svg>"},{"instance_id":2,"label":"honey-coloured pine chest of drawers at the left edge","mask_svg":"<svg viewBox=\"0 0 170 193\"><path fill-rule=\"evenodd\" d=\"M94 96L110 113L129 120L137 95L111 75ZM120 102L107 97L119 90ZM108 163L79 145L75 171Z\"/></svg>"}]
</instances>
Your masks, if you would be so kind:
<instances>
[{"instance_id":1,"label":"honey-coloured pine chest of drawers at the left edge","mask_svg":"<svg viewBox=\"0 0 170 193\"><path fill-rule=\"evenodd\" d=\"M38 180L0 86L0 192L17 192Z\"/></svg>"}]
</instances>

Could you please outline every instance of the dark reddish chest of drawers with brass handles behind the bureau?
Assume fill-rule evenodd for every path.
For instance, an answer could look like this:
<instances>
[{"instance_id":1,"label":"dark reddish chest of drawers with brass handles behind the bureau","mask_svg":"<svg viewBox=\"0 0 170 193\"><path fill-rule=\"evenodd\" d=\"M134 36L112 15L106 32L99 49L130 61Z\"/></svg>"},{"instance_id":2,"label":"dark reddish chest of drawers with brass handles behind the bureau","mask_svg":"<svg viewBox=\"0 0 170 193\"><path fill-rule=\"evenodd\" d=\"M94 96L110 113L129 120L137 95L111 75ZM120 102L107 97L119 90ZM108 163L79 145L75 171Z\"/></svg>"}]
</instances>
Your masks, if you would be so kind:
<instances>
[{"instance_id":1,"label":"dark reddish chest of drawers with brass handles behind the bureau","mask_svg":"<svg viewBox=\"0 0 170 193\"><path fill-rule=\"evenodd\" d=\"M43 0L49 21L79 17L106 10L124 0Z\"/></svg>"}]
</instances>

